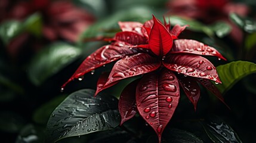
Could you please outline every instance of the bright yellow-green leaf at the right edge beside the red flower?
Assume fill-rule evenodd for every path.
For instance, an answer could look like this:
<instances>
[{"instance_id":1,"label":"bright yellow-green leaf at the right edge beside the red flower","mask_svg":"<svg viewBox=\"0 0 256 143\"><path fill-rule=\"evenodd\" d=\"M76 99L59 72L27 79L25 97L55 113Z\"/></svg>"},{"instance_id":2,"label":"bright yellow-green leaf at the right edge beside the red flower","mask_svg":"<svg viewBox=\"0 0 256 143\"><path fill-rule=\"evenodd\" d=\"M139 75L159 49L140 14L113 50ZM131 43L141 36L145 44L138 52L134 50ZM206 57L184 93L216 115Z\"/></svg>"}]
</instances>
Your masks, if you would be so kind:
<instances>
[{"instance_id":1,"label":"bright yellow-green leaf at the right edge beside the red flower","mask_svg":"<svg viewBox=\"0 0 256 143\"><path fill-rule=\"evenodd\" d=\"M256 64L248 61L233 61L217 67L222 84L216 85L221 93L226 92L236 82L248 74L256 73Z\"/></svg>"}]
</instances>

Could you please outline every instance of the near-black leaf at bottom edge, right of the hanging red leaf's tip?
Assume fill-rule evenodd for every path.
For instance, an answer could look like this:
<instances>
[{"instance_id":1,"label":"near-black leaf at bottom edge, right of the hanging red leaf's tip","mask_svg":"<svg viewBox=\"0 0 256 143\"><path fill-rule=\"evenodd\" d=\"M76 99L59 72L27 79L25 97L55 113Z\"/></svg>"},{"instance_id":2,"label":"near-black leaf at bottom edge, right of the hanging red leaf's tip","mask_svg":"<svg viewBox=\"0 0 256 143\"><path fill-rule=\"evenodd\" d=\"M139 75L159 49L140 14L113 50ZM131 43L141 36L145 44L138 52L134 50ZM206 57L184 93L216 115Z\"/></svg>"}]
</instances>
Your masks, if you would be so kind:
<instances>
[{"instance_id":1,"label":"near-black leaf at bottom edge, right of the hanging red leaf's tip","mask_svg":"<svg viewBox=\"0 0 256 143\"><path fill-rule=\"evenodd\" d=\"M187 132L186 130L168 128L162 136L163 143L203 143L203 141L193 133Z\"/></svg>"}]
</instances>

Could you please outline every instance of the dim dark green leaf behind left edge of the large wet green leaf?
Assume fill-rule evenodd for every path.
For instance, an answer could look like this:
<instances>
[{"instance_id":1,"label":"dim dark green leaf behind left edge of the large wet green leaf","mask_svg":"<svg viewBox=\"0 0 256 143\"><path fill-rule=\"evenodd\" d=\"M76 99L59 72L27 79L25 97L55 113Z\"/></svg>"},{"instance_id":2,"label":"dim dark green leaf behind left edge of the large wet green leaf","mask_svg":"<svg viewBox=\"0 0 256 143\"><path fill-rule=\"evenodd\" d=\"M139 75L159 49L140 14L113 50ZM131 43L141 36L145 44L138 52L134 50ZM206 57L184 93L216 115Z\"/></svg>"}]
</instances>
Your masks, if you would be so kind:
<instances>
[{"instance_id":1,"label":"dim dark green leaf behind left edge of the large wet green leaf","mask_svg":"<svg viewBox=\"0 0 256 143\"><path fill-rule=\"evenodd\" d=\"M54 109L66 98L65 95L60 95L58 97L53 98L53 100L46 102L41 105L38 109L35 110L33 114L33 120L35 123L39 123L42 125L47 125L47 121L53 113Z\"/></svg>"}]
</instances>

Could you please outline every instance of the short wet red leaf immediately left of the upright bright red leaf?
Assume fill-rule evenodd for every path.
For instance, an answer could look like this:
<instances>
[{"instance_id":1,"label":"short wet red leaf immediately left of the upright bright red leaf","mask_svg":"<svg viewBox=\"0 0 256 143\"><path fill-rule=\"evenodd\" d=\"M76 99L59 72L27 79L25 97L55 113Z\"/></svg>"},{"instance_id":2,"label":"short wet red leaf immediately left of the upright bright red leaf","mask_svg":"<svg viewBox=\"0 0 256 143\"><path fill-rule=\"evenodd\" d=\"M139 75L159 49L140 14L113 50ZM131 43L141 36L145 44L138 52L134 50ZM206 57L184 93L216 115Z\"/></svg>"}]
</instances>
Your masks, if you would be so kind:
<instances>
[{"instance_id":1,"label":"short wet red leaf immediately left of the upright bright red leaf","mask_svg":"<svg viewBox=\"0 0 256 143\"><path fill-rule=\"evenodd\" d=\"M131 45L142 45L147 43L147 38L134 32L118 32L113 39L127 42Z\"/></svg>"}]
</instances>

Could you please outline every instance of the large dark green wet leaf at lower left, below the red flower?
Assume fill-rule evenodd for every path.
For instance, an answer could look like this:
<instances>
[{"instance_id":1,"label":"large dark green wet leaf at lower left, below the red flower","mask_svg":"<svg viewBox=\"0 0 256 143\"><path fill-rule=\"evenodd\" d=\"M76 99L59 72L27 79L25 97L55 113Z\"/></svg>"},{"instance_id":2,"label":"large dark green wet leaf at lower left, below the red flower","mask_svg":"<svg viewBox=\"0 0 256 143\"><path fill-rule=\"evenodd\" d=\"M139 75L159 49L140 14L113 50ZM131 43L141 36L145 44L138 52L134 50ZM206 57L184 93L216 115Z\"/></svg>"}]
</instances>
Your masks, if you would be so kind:
<instances>
[{"instance_id":1,"label":"large dark green wet leaf at lower left, below the red flower","mask_svg":"<svg viewBox=\"0 0 256 143\"><path fill-rule=\"evenodd\" d=\"M120 123L118 100L92 89L73 92L51 114L47 128L49 141L109 130Z\"/></svg>"}]
</instances>

